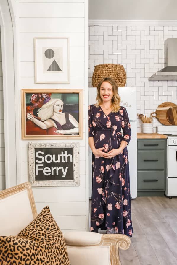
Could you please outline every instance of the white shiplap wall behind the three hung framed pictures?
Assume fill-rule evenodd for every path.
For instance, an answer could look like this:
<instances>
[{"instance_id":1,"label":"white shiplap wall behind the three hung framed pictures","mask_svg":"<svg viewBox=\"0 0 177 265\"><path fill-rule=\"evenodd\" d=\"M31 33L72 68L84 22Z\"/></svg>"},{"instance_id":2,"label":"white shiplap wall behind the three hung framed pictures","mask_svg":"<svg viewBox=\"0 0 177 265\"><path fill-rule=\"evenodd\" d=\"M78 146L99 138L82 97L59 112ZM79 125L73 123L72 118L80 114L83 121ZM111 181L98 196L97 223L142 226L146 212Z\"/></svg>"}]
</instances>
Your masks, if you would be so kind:
<instances>
[{"instance_id":1,"label":"white shiplap wall behind the three hung framed pictures","mask_svg":"<svg viewBox=\"0 0 177 265\"><path fill-rule=\"evenodd\" d=\"M20 79L19 94L23 88L79 88L83 89L83 140L80 144L80 186L78 187L40 187L33 188L33 194L38 212L49 205L55 220L62 231L87 229L87 191L86 191L86 141L85 141L85 58L88 44L85 40L87 31L87 1L50 1L50 0L19 0L19 58ZM34 37L57 37L68 36L70 38L70 83L69 84L35 84L34 82ZM87 36L87 32L86 32ZM87 74L87 72L86 72ZM87 93L86 89L86 93ZM21 117L19 115L19 120ZM21 174L19 182L29 180L28 168L28 142L20 141L20 164ZM53 140L51 142L60 142ZM70 140L71 141L71 140ZM44 142L30 141L30 142ZM47 141L50 142L50 141ZM68 142L61 140L61 142ZM72 142L72 141L71 141Z\"/></svg>"}]
</instances>

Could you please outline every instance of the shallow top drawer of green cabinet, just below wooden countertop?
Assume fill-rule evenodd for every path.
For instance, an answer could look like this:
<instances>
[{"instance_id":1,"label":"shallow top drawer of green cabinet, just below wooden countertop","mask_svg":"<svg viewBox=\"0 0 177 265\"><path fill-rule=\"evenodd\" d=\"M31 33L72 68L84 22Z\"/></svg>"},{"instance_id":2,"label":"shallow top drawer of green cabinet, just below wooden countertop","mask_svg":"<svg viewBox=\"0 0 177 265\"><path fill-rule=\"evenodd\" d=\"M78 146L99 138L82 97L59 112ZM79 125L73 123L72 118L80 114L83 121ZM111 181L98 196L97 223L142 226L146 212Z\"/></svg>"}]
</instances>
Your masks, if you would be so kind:
<instances>
[{"instance_id":1,"label":"shallow top drawer of green cabinet, just below wooden countertop","mask_svg":"<svg viewBox=\"0 0 177 265\"><path fill-rule=\"evenodd\" d=\"M165 149L166 140L138 140L138 149Z\"/></svg>"}]
</instances>

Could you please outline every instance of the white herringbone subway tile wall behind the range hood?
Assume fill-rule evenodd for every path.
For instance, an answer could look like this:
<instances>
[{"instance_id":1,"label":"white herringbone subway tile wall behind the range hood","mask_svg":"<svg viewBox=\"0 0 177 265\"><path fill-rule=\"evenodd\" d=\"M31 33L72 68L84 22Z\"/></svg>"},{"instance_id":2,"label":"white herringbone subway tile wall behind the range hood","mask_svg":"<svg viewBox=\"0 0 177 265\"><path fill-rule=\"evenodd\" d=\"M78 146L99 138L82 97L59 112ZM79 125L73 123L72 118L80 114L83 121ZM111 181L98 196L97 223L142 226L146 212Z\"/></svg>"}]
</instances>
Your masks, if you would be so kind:
<instances>
[{"instance_id":1,"label":"white herringbone subway tile wall behind the range hood","mask_svg":"<svg viewBox=\"0 0 177 265\"><path fill-rule=\"evenodd\" d=\"M88 26L88 86L92 86L94 66L97 64L123 64L127 73L127 87L137 88L137 113L149 117L162 102L177 104L177 81L148 81L155 72L164 67L164 42L177 38L177 22L150 21L130 22L121 20ZM122 23L122 24L123 24ZM142 23L142 25L141 25ZM153 25L154 23L154 25ZM155 25L155 24L160 25ZM126 24L126 25L125 25ZM128 25L129 24L129 25ZM146 24L146 25L144 25ZM149 23L150 24L150 23ZM161 125L153 119L154 132ZM141 121L137 116L137 132L141 132Z\"/></svg>"}]
</instances>

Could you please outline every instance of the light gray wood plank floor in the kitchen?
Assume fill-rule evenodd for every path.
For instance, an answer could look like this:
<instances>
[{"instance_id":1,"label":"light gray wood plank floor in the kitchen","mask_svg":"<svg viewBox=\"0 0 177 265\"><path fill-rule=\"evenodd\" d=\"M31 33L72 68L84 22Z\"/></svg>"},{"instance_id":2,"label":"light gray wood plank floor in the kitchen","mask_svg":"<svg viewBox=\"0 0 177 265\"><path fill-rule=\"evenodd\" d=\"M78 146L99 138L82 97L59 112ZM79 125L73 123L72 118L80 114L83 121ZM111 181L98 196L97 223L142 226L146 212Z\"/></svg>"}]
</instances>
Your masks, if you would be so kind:
<instances>
[{"instance_id":1,"label":"light gray wood plank floor in the kitchen","mask_svg":"<svg viewBox=\"0 0 177 265\"><path fill-rule=\"evenodd\" d=\"M177 197L137 197L131 212L134 233L121 264L177 265Z\"/></svg>"}]
</instances>

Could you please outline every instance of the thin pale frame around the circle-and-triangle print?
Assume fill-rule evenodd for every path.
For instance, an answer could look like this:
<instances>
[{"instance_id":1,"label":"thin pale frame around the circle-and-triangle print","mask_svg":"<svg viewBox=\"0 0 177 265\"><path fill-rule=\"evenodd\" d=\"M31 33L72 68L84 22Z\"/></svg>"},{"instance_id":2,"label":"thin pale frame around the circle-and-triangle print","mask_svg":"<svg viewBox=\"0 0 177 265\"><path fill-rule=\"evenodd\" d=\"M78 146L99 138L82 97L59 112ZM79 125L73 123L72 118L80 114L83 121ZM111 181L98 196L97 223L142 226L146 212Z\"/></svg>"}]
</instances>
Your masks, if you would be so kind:
<instances>
[{"instance_id":1,"label":"thin pale frame around the circle-and-triangle print","mask_svg":"<svg viewBox=\"0 0 177 265\"><path fill-rule=\"evenodd\" d=\"M67 73L68 73L68 79L66 81L37 81L37 67L38 67L38 62L37 62L37 41L41 39L67 39ZM69 45L69 37L35 37L34 38L34 56L35 56L35 83L70 83L70 45Z\"/></svg>"}]
</instances>

